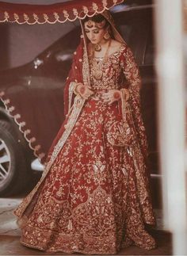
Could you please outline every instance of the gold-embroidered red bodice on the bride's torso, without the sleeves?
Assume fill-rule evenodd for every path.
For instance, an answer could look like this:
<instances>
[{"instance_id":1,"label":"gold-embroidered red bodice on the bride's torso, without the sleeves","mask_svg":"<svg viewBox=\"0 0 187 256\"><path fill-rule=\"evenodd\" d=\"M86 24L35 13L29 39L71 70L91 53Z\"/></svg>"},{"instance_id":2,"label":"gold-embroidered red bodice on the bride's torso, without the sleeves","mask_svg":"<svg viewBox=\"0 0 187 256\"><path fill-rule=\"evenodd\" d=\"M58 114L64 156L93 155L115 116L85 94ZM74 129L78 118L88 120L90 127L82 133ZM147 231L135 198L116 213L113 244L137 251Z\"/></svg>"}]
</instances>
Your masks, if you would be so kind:
<instances>
[{"instance_id":1,"label":"gold-embroidered red bodice on the bride's torso, without the sleeves","mask_svg":"<svg viewBox=\"0 0 187 256\"><path fill-rule=\"evenodd\" d=\"M120 56L124 50L125 46L121 44L119 50L113 52L106 59L90 58L90 82L93 90L120 89L123 76Z\"/></svg>"}]
</instances>

